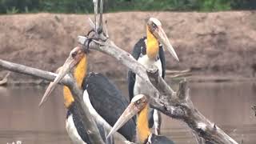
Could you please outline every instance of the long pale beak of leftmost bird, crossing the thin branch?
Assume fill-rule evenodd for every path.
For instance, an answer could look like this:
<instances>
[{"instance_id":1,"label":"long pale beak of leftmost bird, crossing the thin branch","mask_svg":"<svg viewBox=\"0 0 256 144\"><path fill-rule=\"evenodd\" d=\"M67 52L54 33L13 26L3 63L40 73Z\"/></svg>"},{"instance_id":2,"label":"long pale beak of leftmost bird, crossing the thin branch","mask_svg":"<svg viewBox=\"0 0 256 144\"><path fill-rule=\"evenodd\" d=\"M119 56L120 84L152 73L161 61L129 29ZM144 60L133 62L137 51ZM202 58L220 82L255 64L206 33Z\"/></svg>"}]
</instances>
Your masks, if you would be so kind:
<instances>
[{"instance_id":1,"label":"long pale beak of leftmost bird, crossing the thin branch","mask_svg":"<svg viewBox=\"0 0 256 144\"><path fill-rule=\"evenodd\" d=\"M47 98L49 97L50 93L57 87L58 82L65 77L65 75L70 71L70 69L76 64L76 61L69 57L66 59L66 62L61 67L58 72L57 77L54 79L54 82L50 82L50 85L47 87L45 94L43 94L42 100L39 103L39 106L42 106L44 102L46 102Z\"/></svg>"}]
</instances>

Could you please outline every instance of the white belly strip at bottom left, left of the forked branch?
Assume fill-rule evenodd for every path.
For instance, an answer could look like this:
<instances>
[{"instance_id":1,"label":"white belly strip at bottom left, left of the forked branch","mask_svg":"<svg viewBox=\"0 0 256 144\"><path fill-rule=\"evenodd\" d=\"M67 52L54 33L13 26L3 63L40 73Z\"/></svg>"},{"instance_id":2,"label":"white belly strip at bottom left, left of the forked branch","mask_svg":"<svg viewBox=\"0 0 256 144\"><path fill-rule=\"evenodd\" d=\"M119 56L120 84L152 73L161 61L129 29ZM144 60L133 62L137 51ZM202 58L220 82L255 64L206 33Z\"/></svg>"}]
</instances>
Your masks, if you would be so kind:
<instances>
[{"instance_id":1,"label":"white belly strip at bottom left, left of the forked branch","mask_svg":"<svg viewBox=\"0 0 256 144\"><path fill-rule=\"evenodd\" d=\"M66 131L73 143L86 144L86 142L83 142L82 138L78 134L78 130L74 126L73 114L70 114L70 116L66 118Z\"/></svg>"}]
</instances>

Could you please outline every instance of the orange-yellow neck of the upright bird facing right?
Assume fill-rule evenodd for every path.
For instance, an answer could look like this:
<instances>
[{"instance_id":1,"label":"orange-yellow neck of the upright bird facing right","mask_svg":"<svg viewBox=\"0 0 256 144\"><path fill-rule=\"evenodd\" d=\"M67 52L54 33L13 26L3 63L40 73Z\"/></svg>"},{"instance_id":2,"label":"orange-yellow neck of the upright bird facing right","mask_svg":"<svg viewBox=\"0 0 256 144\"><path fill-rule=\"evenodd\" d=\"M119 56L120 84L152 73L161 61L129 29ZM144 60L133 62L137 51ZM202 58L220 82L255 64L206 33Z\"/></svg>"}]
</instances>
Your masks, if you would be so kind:
<instances>
[{"instance_id":1,"label":"orange-yellow neck of the upright bird facing right","mask_svg":"<svg viewBox=\"0 0 256 144\"><path fill-rule=\"evenodd\" d=\"M146 54L149 58L155 59L158 56L159 42L154 37L149 27L146 26Z\"/></svg>"}]
</instances>

